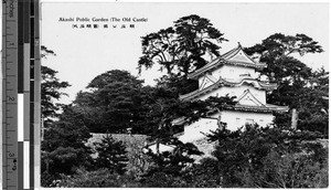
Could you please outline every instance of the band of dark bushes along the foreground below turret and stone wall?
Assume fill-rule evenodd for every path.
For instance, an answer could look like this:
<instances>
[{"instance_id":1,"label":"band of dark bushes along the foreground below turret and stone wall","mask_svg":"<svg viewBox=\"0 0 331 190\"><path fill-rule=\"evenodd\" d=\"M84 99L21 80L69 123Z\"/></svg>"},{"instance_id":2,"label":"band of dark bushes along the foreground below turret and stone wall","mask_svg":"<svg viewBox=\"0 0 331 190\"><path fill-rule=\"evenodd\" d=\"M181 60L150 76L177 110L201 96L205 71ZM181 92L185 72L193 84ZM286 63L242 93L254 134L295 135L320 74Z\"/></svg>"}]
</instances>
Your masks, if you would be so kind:
<instances>
[{"instance_id":1,"label":"band of dark bushes along the foreground below turret and stone wall","mask_svg":"<svg viewBox=\"0 0 331 190\"><path fill-rule=\"evenodd\" d=\"M225 124L224 124L225 125ZM76 168L62 172L58 187L153 187L153 188L325 188L328 187L328 148L320 135L311 131L285 130L277 127L245 126L236 131L226 129L210 134L217 141L213 158L199 162L192 155L201 155L192 144L175 141L173 151L152 152L150 166L140 175L125 172L124 145L111 136L98 144L104 151L94 160L94 169ZM103 148L100 148L100 146ZM117 146L115 148L114 146ZM111 149L107 149L111 147ZM121 147L121 148L120 148ZM115 152L115 149L120 150ZM65 151L65 150L63 150ZM188 152L191 154L188 154ZM107 162L105 155L113 154ZM117 156L116 156L117 155ZM68 157L70 158L70 157ZM116 159L115 159L116 158ZM124 158L120 165L114 160ZM106 162L107 163L106 163ZM109 166L109 167L107 167ZM119 170L116 167L121 168ZM50 176L43 176L46 180ZM55 181L56 182L56 181ZM54 183L54 180L53 180Z\"/></svg>"}]
</instances>

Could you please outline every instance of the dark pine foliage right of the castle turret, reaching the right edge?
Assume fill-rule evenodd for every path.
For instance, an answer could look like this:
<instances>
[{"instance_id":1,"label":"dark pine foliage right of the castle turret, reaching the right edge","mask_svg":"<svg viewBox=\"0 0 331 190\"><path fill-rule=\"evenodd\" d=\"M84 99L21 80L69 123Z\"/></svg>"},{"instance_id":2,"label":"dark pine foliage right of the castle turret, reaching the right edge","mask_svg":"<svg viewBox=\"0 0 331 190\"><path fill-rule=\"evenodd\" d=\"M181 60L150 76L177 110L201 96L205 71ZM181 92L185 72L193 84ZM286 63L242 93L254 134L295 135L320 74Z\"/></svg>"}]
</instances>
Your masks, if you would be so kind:
<instances>
[{"instance_id":1,"label":"dark pine foliage right of the castle turret, reaching the right edge","mask_svg":"<svg viewBox=\"0 0 331 190\"><path fill-rule=\"evenodd\" d=\"M318 42L306 34L275 33L245 52L265 62L267 67L261 74L278 84L277 89L267 94L267 102L296 108L299 112L298 128L328 136L329 73L323 68L312 71L295 57L323 52ZM277 115L276 124L289 126L289 118L287 114Z\"/></svg>"}]
</instances>

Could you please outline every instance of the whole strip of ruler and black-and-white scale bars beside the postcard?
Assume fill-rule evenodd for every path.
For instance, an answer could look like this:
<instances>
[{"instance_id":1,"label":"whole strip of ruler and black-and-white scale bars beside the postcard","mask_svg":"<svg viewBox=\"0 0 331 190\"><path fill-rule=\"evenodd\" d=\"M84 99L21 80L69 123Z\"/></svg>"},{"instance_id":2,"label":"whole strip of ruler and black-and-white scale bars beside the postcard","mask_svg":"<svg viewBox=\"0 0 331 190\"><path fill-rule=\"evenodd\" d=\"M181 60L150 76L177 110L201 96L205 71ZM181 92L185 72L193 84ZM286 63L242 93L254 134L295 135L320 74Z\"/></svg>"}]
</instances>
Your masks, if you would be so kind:
<instances>
[{"instance_id":1,"label":"whole strip of ruler and black-and-white scale bars beside the postcard","mask_svg":"<svg viewBox=\"0 0 331 190\"><path fill-rule=\"evenodd\" d=\"M3 189L40 187L39 6L39 0L2 1Z\"/></svg>"}]
</instances>

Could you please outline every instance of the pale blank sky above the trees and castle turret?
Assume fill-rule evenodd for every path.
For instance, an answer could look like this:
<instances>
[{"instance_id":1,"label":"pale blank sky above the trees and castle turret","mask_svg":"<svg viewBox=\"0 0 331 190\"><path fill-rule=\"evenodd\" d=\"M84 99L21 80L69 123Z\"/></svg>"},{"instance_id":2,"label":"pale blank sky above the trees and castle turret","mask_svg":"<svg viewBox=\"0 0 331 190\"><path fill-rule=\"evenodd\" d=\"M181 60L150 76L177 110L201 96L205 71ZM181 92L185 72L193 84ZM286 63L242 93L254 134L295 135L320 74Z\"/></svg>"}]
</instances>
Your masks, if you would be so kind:
<instances>
[{"instance_id":1,"label":"pale blank sky above the trees and castle turret","mask_svg":"<svg viewBox=\"0 0 331 190\"><path fill-rule=\"evenodd\" d=\"M329 71L328 3L42 0L41 11L41 44L56 53L56 56L43 60L42 64L58 71L57 77L72 84L65 91L70 97L61 101L66 104L75 98L78 91L85 91L95 76L106 71L127 70L138 76L141 36L171 27L173 21L190 14L209 19L224 33L228 42L221 44L221 53L236 48L238 42L244 48L252 46L274 33L303 33L319 42L324 52L299 59L310 67L324 66ZM74 21L63 21L70 18ZM108 21L93 21L93 18ZM84 29L79 29L82 24ZM87 29L87 24L98 24L99 28ZM104 24L108 24L108 29ZM153 80L161 75L158 68L143 70L139 78L145 80L146 84L154 84Z\"/></svg>"}]
</instances>

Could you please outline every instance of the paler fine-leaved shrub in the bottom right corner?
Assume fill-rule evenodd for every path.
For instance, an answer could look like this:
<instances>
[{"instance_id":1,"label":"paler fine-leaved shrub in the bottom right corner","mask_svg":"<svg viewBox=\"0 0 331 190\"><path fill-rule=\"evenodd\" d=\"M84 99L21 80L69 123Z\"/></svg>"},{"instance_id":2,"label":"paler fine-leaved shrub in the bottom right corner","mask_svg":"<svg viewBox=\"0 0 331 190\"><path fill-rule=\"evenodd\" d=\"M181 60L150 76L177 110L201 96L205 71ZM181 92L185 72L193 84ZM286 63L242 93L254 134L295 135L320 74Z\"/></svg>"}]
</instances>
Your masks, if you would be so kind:
<instances>
[{"instance_id":1,"label":"paler fine-leaved shrub in the bottom right corner","mask_svg":"<svg viewBox=\"0 0 331 190\"><path fill-rule=\"evenodd\" d=\"M244 187L256 188L327 188L328 165L307 155L282 155L271 151L258 170L241 173Z\"/></svg>"}]
</instances>

